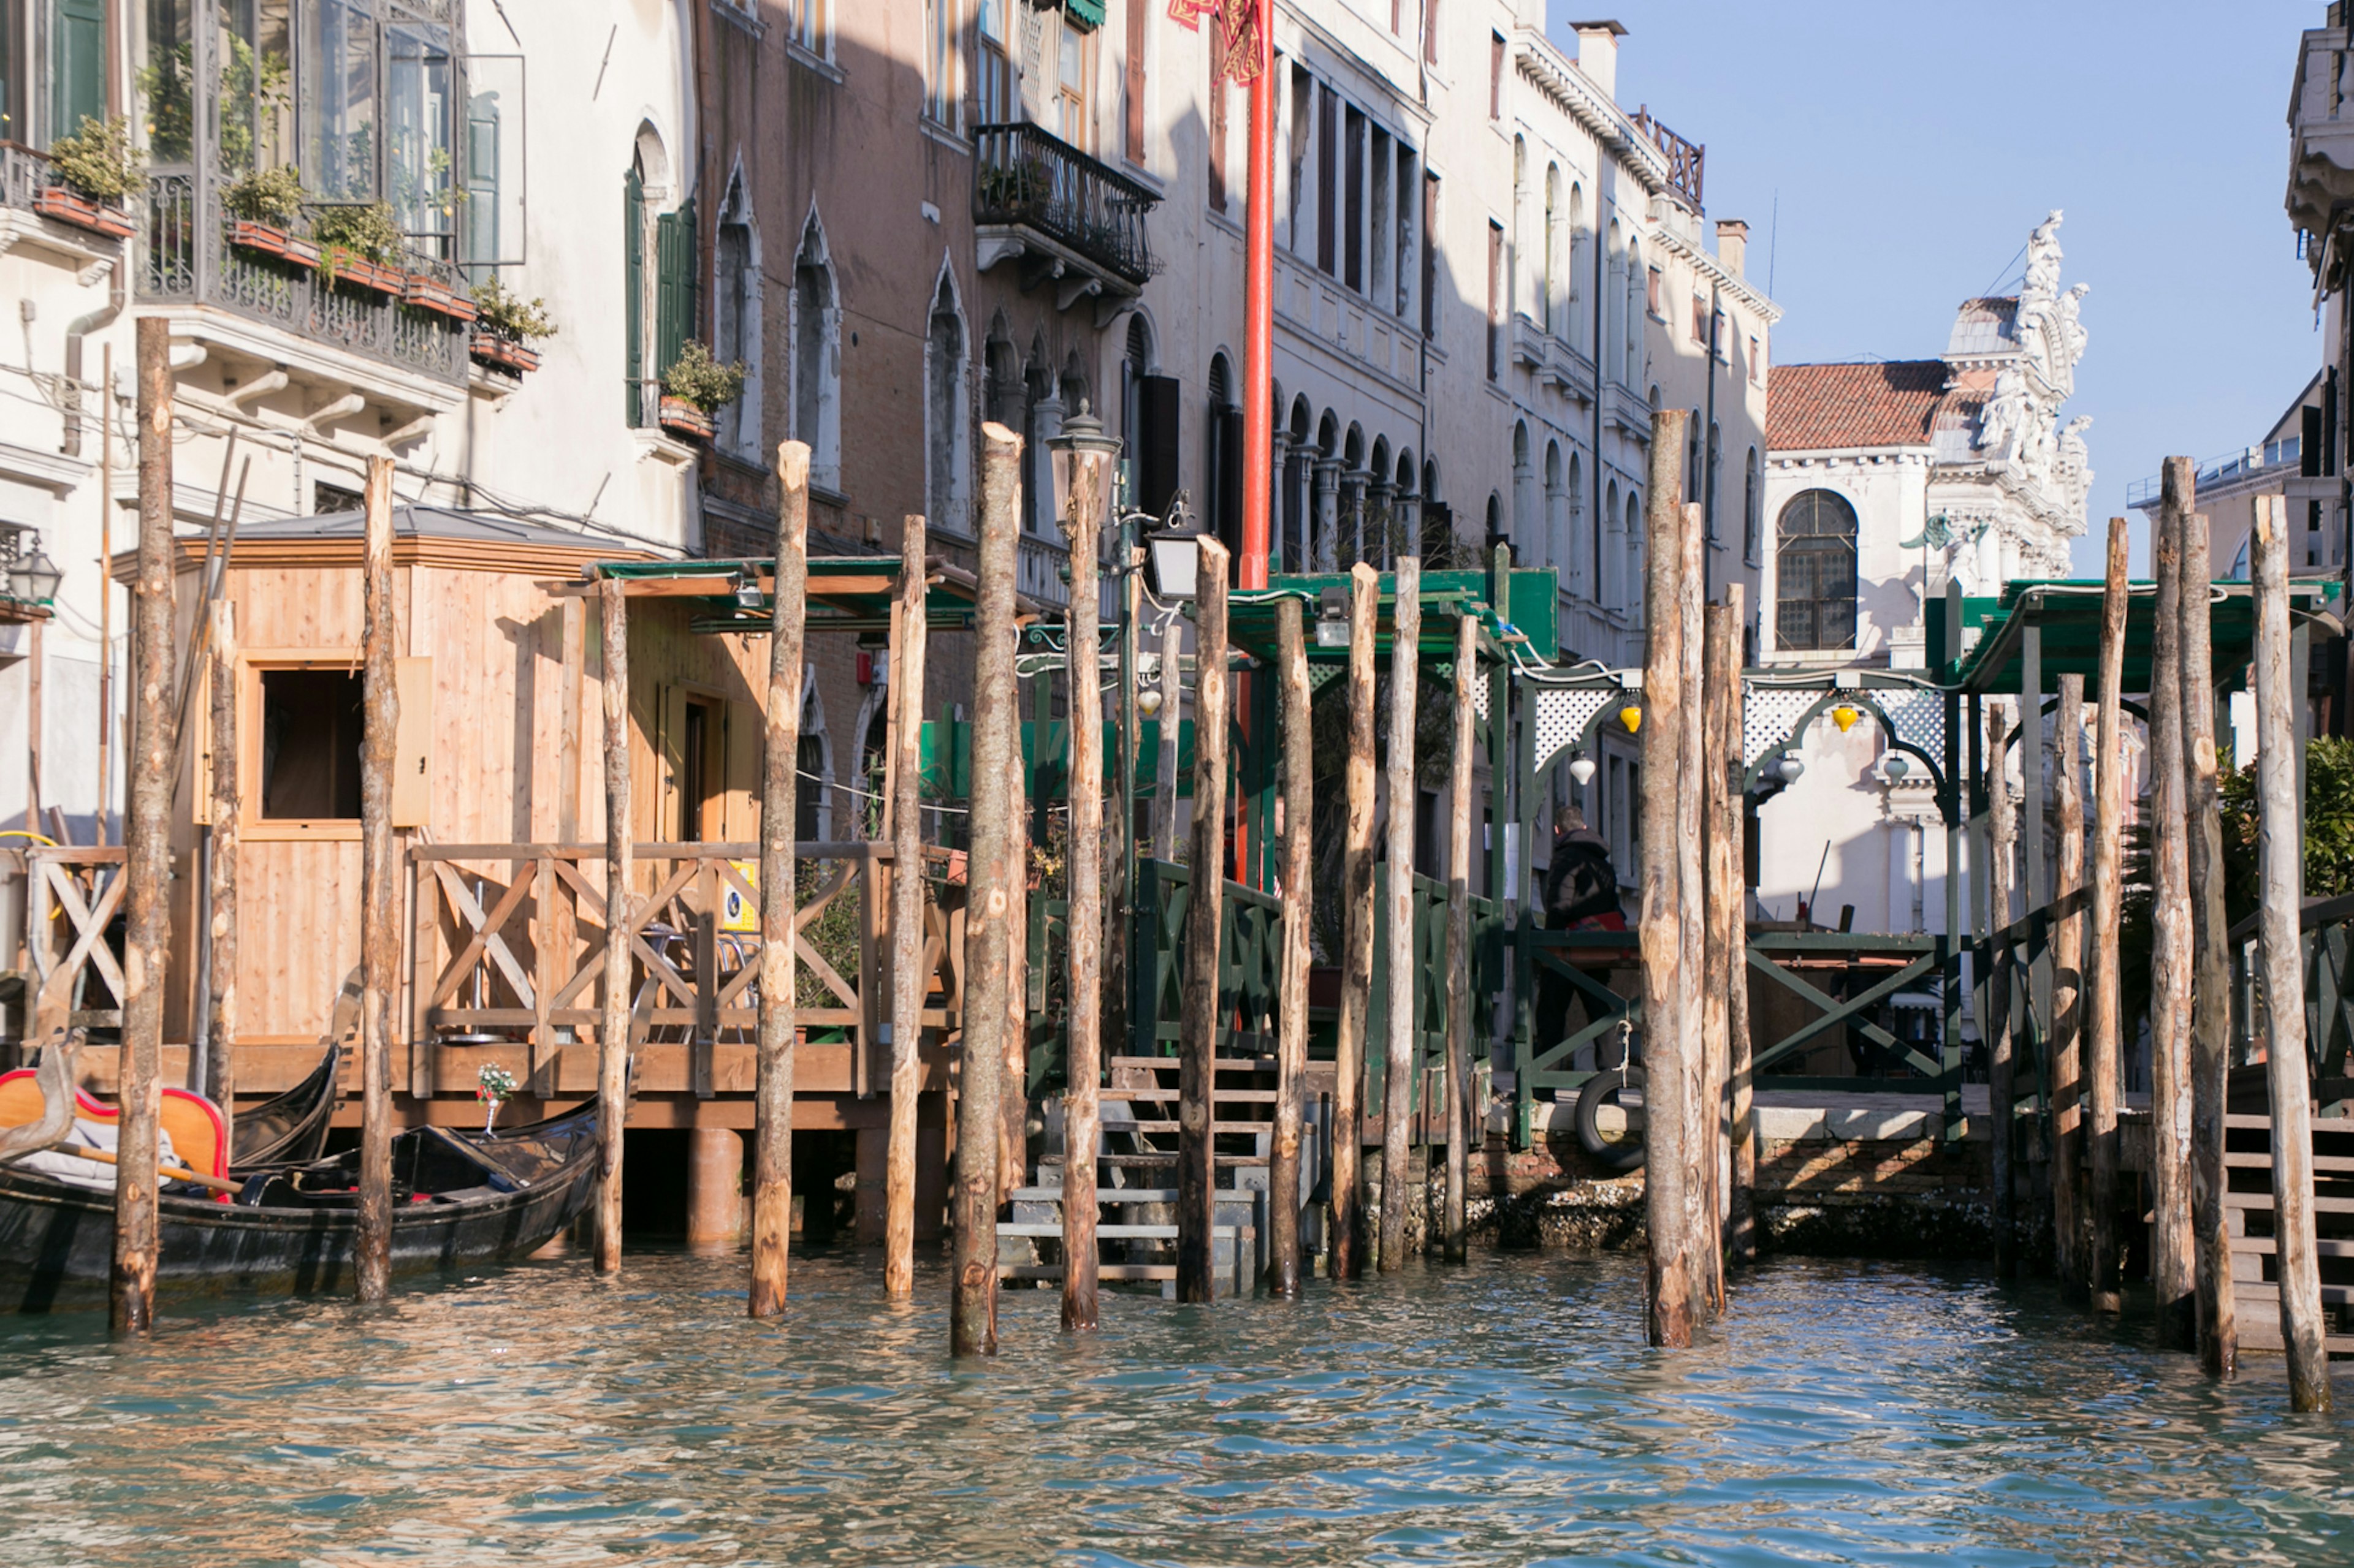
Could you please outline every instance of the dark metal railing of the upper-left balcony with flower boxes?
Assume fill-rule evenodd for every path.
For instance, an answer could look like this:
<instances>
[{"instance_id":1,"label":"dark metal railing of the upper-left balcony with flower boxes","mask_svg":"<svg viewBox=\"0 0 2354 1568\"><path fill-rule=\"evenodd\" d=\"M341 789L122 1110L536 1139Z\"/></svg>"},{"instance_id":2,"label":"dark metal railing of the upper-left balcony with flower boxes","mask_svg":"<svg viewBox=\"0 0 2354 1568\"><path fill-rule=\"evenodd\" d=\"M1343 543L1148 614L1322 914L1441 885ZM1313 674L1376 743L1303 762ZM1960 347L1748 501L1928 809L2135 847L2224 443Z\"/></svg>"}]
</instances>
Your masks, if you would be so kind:
<instances>
[{"instance_id":1,"label":"dark metal railing of the upper-left balcony with flower boxes","mask_svg":"<svg viewBox=\"0 0 2354 1568\"><path fill-rule=\"evenodd\" d=\"M395 370L466 381L464 325L348 275L327 283L315 268L231 245L219 184L195 170L148 174L141 228L141 299L214 306ZM447 261L410 254L398 271L466 294L466 280Z\"/></svg>"}]
</instances>

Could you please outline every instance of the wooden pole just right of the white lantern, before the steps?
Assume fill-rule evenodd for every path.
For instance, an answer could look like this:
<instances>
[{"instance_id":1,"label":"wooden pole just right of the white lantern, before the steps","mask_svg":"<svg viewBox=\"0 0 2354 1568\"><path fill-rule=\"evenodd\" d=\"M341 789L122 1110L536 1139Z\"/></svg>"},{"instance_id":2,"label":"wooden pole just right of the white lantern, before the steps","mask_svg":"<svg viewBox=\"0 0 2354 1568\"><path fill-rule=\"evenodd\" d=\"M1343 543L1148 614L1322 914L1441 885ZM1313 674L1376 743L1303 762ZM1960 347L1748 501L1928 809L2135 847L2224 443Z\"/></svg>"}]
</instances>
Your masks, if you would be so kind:
<instances>
[{"instance_id":1,"label":"wooden pole just right of the white lantern, before the steps","mask_svg":"<svg viewBox=\"0 0 2354 1568\"><path fill-rule=\"evenodd\" d=\"M1217 935L1226 902L1226 546L1201 537L1193 579L1193 850L1177 1034L1177 1300L1217 1300Z\"/></svg>"}]
</instances>

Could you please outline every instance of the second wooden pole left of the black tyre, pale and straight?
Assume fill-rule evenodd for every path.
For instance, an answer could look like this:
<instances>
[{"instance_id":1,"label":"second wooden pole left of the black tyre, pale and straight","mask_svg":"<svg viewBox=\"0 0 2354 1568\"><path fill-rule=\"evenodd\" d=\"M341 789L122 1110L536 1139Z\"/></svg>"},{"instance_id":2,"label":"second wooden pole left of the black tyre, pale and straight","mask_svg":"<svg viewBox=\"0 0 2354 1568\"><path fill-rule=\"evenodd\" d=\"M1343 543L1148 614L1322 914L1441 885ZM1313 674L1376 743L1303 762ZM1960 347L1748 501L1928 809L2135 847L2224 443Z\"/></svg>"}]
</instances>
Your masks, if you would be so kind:
<instances>
[{"instance_id":1,"label":"second wooden pole left of the black tyre, pale and straight","mask_svg":"<svg viewBox=\"0 0 2354 1568\"><path fill-rule=\"evenodd\" d=\"M1415 1017L1415 709L1422 685L1422 558L1398 556L1389 636L1389 817L1382 899L1389 911L1389 1036L1382 1052L1382 1274L1405 1267L1405 1142L1415 1121L1422 1031ZM1201 744L1201 742L1196 742Z\"/></svg>"}]
</instances>

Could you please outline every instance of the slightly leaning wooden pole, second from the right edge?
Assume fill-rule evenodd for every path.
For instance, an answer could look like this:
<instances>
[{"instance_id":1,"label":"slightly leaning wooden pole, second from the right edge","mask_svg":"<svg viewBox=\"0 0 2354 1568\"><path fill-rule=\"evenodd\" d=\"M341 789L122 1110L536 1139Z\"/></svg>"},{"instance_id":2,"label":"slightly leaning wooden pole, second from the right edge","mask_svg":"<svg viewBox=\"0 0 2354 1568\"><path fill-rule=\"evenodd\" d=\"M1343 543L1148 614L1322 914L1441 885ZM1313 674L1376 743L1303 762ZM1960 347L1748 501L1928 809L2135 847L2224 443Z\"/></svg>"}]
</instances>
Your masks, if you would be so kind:
<instances>
[{"instance_id":1,"label":"slightly leaning wooden pole, second from the right edge","mask_svg":"<svg viewBox=\"0 0 2354 1568\"><path fill-rule=\"evenodd\" d=\"M2199 1366L2239 1370L2232 1229L2222 1205L2225 1090L2232 1071L2232 954L2222 909L2222 796L2215 772L2215 638L2208 520L2182 518L2182 822L2192 906L2192 1262L2199 1278Z\"/></svg>"}]
</instances>

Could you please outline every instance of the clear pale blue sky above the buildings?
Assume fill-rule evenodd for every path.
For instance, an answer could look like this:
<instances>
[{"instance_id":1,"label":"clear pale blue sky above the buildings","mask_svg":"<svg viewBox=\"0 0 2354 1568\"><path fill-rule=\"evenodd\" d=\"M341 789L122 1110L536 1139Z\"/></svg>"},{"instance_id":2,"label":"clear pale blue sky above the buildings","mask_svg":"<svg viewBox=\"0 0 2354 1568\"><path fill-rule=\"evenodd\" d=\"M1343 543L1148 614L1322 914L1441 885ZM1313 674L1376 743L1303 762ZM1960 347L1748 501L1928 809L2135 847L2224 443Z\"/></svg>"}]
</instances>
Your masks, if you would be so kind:
<instances>
[{"instance_id":1,"label":"clear pale blue sky above the buildings","mask_svg":"<svg viewBox=\"0 0 2354 1568\"><path fill-rule=\"evenodd\" d=\"M1749 219L1784 308L1775 360L1933 358L1954 306L2017 278L2067 210L2093 285L2069 414L2093 414L2090 537L2182 452L2257 440L2321 360L2281 212L2298 33L2321 0L1551 0L1617 16L1617 97L1707 155L1711 219ZM1775 205L1780 198L1780 219ZM2140 539L2135 570L2142 570Z\"/></svg>"}]
</instances>

